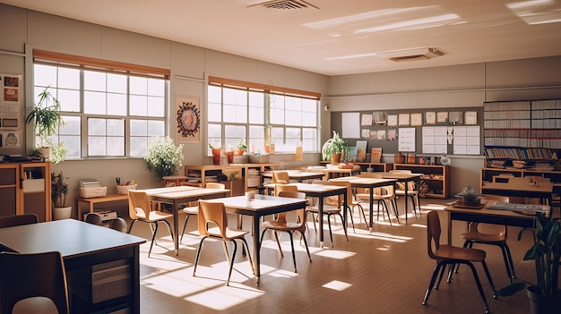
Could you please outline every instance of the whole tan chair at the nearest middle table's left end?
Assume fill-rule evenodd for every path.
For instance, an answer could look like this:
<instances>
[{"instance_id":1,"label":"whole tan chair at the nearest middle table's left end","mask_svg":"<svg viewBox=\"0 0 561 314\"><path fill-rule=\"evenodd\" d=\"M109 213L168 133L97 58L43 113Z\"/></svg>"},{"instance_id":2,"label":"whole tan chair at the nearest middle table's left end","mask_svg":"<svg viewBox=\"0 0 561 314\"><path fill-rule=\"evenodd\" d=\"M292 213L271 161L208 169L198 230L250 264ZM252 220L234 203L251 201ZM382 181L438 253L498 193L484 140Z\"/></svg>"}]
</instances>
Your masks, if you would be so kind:
<instances>
[{"instance_id":1,"label":"whole tan chair at the nearest middle table's left end","mask_svg":"<svg viewBox=\"0 0 561 314\"><path fill-rule=\"evenodd\" d=\"M226 208L224 208L224 203L211 202L207 200L199 200L199 233L203 235L201 242L199 243L199 248L197 249L197 255L194 259L193 276L197 270L197 265L199 264L199 258L201 257L201 249L203 248L203 242L207 238L211 237L214 239L221 240L224 242L223 248L226 254L226 259L229 261L229 272L228 279L226 280L226 285L229 285L229 279L232 275L232 269L234 268L234 259L236 258L237 252L237 240L241 241L244 245L244 249L247 253L247 260L254 272L255 267L253 260L249 255L249 248L247 246L246 238L244 236L249 233L246 230L230 229L228 226L228 217L226 216ZM232 242L234 244L234 252L230 258L227 242Z\"/></svg>"}]
</instances>

